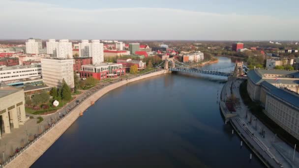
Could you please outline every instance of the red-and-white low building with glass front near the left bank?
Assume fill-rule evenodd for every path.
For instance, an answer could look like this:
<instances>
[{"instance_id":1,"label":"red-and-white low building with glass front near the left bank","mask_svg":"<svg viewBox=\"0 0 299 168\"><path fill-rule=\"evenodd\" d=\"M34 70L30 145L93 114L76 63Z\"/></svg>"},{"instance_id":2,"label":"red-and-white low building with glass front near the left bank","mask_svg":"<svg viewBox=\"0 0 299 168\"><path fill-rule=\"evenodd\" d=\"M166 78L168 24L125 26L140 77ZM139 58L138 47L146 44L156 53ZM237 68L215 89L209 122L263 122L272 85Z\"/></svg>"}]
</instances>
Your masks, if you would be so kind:
<instances>
[{"instance_id":1,"label":"red-and-white low building with glass front near the left bank","mask_svg":"<svg viewBox=\"0 0 299 168\"><path fill-rule=\"evenodd\" d=\"M125 75L125 68L120 63L99 63L94 65L82 65L81 78L93 77L98 80L117 78Z\"/></svg>"}]
</instances>

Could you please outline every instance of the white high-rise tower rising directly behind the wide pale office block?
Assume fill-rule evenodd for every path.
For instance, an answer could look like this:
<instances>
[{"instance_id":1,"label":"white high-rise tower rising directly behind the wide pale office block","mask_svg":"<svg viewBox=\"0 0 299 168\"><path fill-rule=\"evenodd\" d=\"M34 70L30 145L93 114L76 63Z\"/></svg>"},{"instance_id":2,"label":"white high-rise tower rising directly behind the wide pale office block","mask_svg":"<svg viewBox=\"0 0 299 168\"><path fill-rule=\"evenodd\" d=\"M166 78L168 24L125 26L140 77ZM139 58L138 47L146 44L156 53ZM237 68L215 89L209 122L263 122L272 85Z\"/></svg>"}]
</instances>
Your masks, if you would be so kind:
<instances>
[{"instance_id":1,"label":"white high-rise tower rising directly behind the wide pale office block","mask_svg":"<svg viewBox=\"0 0 299 168\"><path fill-rule=\"evenodd\" d=\"M73 58L72 43L68 40L59 40L56 53L58 58Z\"/></svg>"}]
</instances>

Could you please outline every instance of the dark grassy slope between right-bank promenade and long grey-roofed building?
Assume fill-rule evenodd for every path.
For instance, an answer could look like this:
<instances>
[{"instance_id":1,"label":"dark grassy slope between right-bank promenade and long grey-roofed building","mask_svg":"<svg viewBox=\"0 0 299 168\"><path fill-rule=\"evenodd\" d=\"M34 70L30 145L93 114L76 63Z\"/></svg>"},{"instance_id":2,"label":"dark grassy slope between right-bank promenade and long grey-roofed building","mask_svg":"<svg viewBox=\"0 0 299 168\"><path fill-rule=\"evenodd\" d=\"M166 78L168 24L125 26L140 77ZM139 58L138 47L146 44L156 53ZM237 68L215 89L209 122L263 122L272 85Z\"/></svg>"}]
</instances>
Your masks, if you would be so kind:
<instances>
[{"instance_id":1,"label":"dark grassy slope between right-bank promenade and long grey-roofed building","mask_svg":"<svg viewBox=\"0 0 299 168\"><path fill-rule=\"evenodd\" d=\"M291 146L294 146L294 144L299 144L299 140L277 125L263 112L263 107L261 107L258 102L253 102L250 99L247 92L247 81L240 84L239 91L244 104L249 108L250 112L252 112L273 133L277 134L281 140L284 140Z\"/></svg>"}]
</instances>

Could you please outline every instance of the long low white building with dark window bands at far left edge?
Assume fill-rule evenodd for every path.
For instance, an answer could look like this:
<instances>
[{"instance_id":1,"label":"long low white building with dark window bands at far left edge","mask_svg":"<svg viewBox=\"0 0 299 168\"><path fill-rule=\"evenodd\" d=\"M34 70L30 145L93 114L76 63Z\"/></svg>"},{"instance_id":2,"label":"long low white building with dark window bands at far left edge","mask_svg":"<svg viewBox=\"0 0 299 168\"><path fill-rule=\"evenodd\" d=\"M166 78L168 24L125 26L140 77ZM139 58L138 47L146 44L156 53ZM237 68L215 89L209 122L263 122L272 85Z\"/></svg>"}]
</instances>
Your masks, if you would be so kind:
<instances>
[{"instance_id":1,"label":"long low white building with dark window bands at far left edge","mask_svg":"<svg viewBox=\"0 0 299 168\"><path fill-rule=\"evenodd\" d=\"M20 80L30 77L41 77L41 65L0 66L0 81Z\"/></svg>"}]
</instances>

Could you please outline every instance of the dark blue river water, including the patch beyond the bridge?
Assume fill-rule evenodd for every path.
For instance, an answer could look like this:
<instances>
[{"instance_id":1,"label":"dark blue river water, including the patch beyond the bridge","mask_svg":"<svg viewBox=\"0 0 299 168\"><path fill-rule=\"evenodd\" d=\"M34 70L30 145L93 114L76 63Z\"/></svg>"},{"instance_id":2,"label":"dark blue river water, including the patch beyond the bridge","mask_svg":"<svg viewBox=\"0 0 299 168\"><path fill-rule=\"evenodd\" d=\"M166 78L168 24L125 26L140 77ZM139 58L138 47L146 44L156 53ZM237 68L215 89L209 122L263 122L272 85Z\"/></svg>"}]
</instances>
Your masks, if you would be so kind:
<instances>
[{"instance_id":1,"label":"dark blue river water, including the patch beyond the bridge","mask_svg":"<svg viewBox=\"0 0 299 168\"><path fill-rule=\"evenodd\" d=\"M234 65L230 58L206 69ZM225 125L220 78L168 74L117 88L91 106L32 168L261 168ZM217 93L219 92L219 95Z\"/></svg>"}]
</instances>

